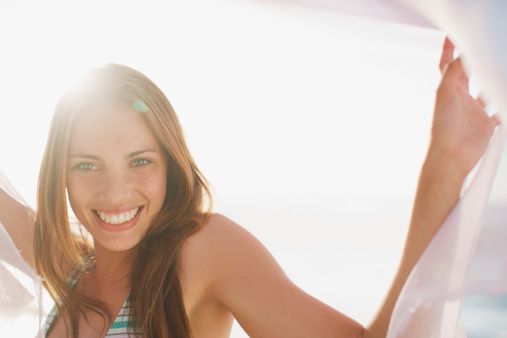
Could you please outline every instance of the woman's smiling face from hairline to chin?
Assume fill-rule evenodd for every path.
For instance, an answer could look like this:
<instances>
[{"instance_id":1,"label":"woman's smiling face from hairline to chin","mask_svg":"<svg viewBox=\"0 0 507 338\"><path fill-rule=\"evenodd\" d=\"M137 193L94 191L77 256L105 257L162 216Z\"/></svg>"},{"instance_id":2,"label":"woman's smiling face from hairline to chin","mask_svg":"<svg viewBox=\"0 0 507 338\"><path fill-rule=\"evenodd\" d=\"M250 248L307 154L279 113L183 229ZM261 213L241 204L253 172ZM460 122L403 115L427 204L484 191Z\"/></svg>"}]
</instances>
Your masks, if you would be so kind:
<instances>
[{"instance_id":1,"label":"woman's smiling face from hairline to chin","mask_svg":"<svg viewBox=\"0 0 507 338\"><path fill-rule=\"evenodd\" d=\"M67 191L79 221L112 251L133 248L162 208L167 161L146 122L126 104L80 111L70 136Z\"/></svg>"}]
</instances>

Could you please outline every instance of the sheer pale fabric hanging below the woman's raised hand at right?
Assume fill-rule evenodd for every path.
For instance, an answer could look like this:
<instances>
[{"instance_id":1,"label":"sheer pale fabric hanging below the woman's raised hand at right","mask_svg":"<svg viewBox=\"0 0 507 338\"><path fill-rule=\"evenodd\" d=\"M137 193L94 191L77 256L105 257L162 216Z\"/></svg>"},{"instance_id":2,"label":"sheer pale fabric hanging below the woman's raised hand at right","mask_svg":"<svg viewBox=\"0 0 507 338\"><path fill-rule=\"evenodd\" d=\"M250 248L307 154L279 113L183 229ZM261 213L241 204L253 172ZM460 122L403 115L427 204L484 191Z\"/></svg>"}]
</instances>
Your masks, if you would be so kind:
<instances>
[{"instance_id":1,"label":"sheer pale fabric hanging below the woman's raised hand at right","mask_svg":"<svg viewBox=\"0 0 507 338\"><path fill-rule=\"evenodd\" d=\"M484 211L507 131L496 131L474 180L413 269L396 304L388 337L466 337L463 299L507 292L507 235ZM490 213L489 215L495 215ZM479 245L480 244L480 245Z\"/></svg>"}]
</instances>

